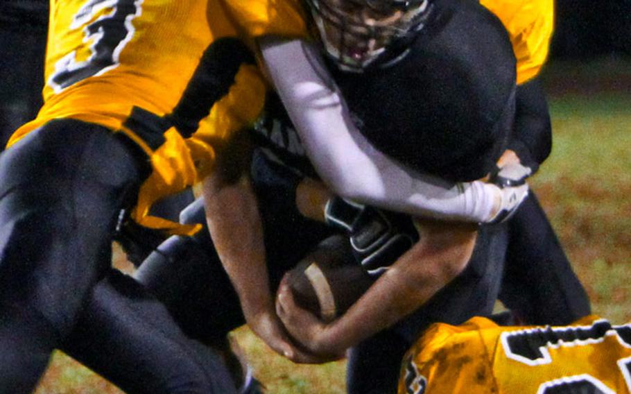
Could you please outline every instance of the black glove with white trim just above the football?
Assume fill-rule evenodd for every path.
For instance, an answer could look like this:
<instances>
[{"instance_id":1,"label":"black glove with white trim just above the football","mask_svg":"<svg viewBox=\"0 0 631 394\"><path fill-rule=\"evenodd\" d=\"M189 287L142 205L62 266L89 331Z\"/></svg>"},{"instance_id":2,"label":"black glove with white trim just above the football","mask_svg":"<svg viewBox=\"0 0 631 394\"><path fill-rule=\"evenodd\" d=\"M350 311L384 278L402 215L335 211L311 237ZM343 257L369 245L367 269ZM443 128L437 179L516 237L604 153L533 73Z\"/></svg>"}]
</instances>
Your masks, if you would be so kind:
<instances>
[{"instance_id":1,"label":"black glove with white trim just above the football","mask_svg":"<svg viewBox=\"0 0 631 394\"><path fill-rule=\"evenodd\" d=\"M349 235L355 259L374 276L381 275L419 240L410 216L339 197L327 203L325 219Z\"/></svg>"}]
</instances>

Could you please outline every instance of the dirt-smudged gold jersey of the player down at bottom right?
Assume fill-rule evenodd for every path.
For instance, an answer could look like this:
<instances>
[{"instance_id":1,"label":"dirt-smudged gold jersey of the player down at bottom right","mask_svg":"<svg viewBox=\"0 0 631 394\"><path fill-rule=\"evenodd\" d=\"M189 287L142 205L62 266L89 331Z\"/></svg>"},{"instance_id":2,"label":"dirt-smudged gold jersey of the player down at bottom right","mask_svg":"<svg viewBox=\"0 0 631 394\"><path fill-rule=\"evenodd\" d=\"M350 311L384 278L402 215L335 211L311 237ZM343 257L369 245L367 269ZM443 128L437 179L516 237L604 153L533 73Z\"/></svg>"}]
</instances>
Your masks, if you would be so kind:
<instances>
[{"instance_id":1,"label":"dirt-smudged gold jersey of the player down at bottom right","mask_svg":"<svg viewBox=\"0 0 631 394\"><path fill-rule=\"evenodd\" d=\"M624 394L631 324L588 316L564 327L500 327L486 318L432 325L404 357L399 394Z\"/></svg>"}]
</instances>

